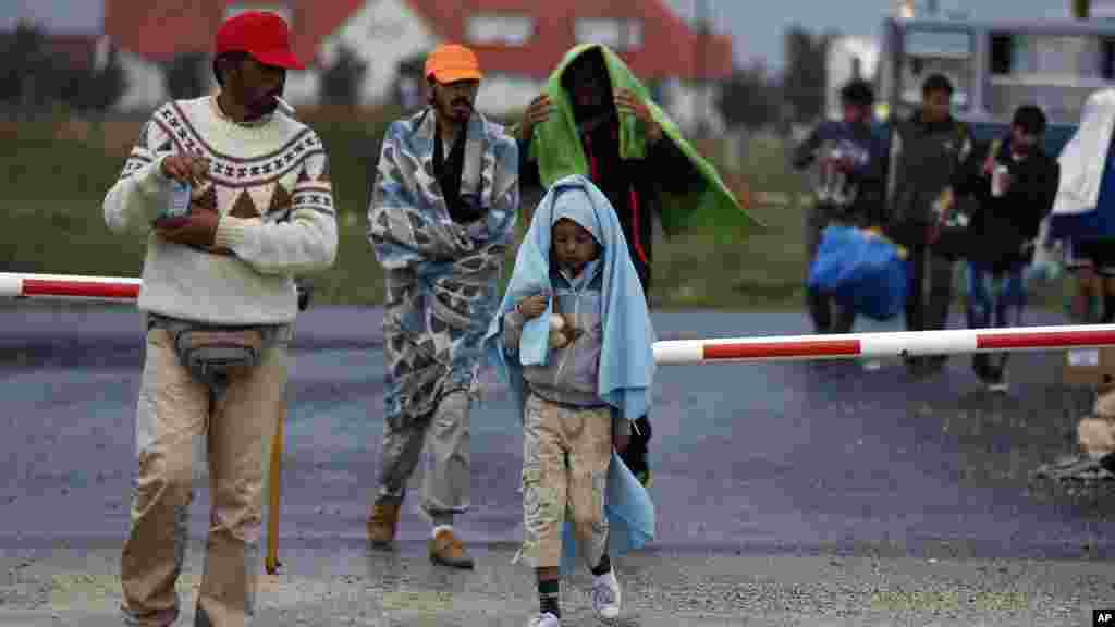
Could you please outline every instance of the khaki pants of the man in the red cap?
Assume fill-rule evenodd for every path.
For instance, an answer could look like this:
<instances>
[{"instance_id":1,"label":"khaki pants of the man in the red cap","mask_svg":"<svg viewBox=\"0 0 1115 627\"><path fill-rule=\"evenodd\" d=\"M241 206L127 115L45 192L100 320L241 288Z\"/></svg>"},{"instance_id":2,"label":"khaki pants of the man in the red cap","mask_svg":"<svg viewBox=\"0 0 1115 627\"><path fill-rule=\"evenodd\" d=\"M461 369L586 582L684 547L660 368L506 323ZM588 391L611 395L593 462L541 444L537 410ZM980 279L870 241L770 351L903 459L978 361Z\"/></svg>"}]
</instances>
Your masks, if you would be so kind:
<instances>
[{"instance_id":1,"label":"khaki pants of the man in the red cap","mask_svg":"<svg viewBox=\"0 0 1115 627\"><path fill-rule=\"evenodd\" d=\"M254 614L269 446L284 403L287 343L231 378L214 399L191 377L169 334L147 332L136 446L139 472L120 580L128 625L165 626L178 615L175 581L187 540L195 443L205 436L212 505L195 625L240 626Z\"/></svg>"}]
</instances>

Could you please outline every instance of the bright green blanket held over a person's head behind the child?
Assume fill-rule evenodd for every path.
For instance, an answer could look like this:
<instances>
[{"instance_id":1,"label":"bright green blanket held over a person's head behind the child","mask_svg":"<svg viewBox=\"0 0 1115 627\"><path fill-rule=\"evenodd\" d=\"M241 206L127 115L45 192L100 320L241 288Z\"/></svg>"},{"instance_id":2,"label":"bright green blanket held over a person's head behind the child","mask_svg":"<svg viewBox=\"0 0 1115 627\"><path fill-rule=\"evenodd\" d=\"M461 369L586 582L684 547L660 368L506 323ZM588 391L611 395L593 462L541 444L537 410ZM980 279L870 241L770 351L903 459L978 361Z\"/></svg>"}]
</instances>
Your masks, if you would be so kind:
<instances>
[{"instance_id":1,"label":"bright green blanket held over a person's head behind the child","mask_svg":"<svg viewBox=\"0 0 1115 627\"><path fill-rule=\"evenodd\" d=\"M712 164L681 136L678 125L650 99L650 91L631 74L627 64L607 46L599 44L584 44L571 49L546 83L545 90L553 104L553 114L546 122L535 127L530 146L531 158L539 164L542 183L549 187L570 174L589 175L589 163L573 118L573 104L562 87L561 77L578 57L593 49L600 50L608 66L613 96L622 89L629 89L646 103L651 116L661 125L665 136L678 146L694 166L690 175L696 173L698 184L689 185L689 192L685 194L662 192L661 220L666 232L676 234L699 228L702 231L717 233L724 239L739 241L740 238L763 228L758 220L739 205ZM620 158L646 157L644 126L633 114L620 114L619 139Z\"/></svg>"}]
</instances>

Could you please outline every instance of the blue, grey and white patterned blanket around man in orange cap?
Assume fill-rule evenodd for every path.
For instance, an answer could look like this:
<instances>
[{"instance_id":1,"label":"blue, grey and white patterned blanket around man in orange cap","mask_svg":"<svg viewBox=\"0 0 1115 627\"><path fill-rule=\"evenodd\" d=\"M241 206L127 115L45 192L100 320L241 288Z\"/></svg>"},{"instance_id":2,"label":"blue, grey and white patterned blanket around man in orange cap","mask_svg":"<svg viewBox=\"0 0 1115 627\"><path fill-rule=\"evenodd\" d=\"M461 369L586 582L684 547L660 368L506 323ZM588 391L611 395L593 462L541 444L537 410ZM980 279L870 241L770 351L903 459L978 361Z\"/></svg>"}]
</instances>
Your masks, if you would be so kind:
<instances>
[{"instance_id":1,"label":"blue, grey and white patterned blanket around man in orange cap","mask_svg":"<svg viewBox=\"0 0 1115 627\"><path fill-rule=\"evenodd\" d=\"M457 223L435 175L435 116L395 122L381 147L368 239L386 270L384 353L388 421L425 416L455 390L472 390L498 306L497 279L518 209L517 146L474 114L466 131L462 197L485 209Z\"/></svg>"}]
</instances>

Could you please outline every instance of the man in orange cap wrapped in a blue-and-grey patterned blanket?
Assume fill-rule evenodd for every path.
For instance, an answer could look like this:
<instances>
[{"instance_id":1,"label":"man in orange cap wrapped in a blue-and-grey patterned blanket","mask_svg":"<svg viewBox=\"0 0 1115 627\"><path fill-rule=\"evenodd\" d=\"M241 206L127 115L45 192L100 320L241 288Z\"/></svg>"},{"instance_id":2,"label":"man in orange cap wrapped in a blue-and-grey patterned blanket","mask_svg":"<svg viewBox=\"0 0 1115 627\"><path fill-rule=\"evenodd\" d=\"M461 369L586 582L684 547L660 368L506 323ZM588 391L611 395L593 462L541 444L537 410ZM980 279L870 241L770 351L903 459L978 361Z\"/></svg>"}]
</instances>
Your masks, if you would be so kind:
<instances>
[{"instance_id":1,"label":"man in orange cap wrapped in a blue-and-grey patterned blanket","mask_svg":"<svg viewBox=\"0 0 1115 627\"><path fill-rule=\"evenodd\" d=\"M472 568L453 522L469 505L469 413L518 211L518 152L473 108L482 74L472 50L438 47L425 75L429 106L388 128L368 208L387 287L384 446L368 537L395 539L425 446L430 559Z\"/></svg>"}]
</instances>

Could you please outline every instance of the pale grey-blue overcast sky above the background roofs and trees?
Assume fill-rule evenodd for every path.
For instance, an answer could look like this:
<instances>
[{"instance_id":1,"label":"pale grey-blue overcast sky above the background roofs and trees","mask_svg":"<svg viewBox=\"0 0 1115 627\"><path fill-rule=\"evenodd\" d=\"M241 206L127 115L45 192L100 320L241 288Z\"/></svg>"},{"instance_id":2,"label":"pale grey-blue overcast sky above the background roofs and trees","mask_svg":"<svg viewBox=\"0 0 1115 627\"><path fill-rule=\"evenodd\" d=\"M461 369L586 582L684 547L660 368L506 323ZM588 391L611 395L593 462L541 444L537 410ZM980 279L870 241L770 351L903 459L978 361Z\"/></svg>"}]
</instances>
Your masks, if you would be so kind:
<instances>
[{"instance_id":1,"label":"pale grey-blue overcast sky above the background roofs and trees","mask_svg":"<svg viewBox=\"0 0 1115 627\"><path fill-rule=\"evenodd\" d=\"M185 1L185 0L184 0ZM328 2L329 0L320 0ZM445 0L456 1L456 0ZM537 0L554 1L554 0ZM691 16L701 0L665 0L683 16ZM939 0L942 11L966 8L972 18L1064 18L1069 0ZM1093 0L1115 2L1115 0ZM135 0L137 7L143 0ZM737 62L764 58L782 66L782 33L798 23L811 30L833 29L845 35L879 33L880 21L892 12L894 0L705 0L717 28L734 37ZM49 30L98 32L104 0L0 0L0 28L8 30L21 18L41 22Z\"/></svg>"}]
</instances>

